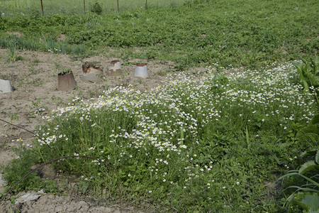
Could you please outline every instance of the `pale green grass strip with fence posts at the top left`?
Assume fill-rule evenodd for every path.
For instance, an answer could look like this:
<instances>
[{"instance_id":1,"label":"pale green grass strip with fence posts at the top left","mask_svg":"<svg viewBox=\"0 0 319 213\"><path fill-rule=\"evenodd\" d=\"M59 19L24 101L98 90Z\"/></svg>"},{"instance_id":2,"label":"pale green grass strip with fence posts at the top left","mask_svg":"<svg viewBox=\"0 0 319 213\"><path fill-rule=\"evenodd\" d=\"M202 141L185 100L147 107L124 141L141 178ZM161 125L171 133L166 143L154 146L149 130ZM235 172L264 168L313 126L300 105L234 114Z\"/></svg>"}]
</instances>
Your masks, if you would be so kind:
<instances>
[{"instance_id":1,"label":"pale green grass strip with fence posts at the top left","mask_svg":"<svg viewBox=\"0 0 319 213\"><path fill-rule=\"evenodd\" d=\"M82 15L88 12L102 14L156 6L179 6L186 1L194 0L0 0L0 15Z\"/></svg>"}]
</instances>

